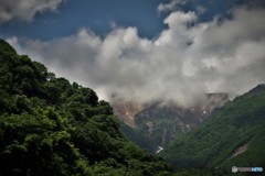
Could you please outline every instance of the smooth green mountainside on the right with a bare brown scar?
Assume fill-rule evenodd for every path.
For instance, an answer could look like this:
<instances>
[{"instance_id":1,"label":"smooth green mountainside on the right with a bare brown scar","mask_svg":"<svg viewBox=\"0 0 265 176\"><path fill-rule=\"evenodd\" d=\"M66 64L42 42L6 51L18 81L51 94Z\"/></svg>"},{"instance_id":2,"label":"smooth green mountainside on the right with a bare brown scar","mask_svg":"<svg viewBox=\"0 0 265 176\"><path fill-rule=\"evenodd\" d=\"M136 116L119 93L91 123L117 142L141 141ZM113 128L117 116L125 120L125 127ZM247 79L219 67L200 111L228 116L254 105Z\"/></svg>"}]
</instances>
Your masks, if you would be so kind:
<instances>
[{"instance_id":1,"label":"smooth green mountainside on the right with a bare brown scar","mask_svg":"<svg viewBox=\"0 0 265 176\"><path fill-rule=\"evenodd\" d=\"M160 153L183 167L265 166L265 85L226 102Z\"/></svg>"}]
</instances>

